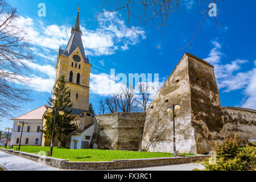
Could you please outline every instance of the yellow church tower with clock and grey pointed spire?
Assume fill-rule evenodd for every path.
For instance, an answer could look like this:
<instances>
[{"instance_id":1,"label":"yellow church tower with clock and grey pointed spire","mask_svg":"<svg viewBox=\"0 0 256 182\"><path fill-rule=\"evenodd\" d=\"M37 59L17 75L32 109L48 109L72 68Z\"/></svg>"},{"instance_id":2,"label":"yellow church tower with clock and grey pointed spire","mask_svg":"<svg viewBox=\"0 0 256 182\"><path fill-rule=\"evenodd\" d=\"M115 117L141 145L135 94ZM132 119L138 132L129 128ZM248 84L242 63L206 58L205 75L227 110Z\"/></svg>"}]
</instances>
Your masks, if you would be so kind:
<instances>
[{"instance_id":1,"label":"yellow church tower with clock and grey pointed spire","mask_svg":"<svg viewBox=\"0 0 256 182\"><path fill-rule=\"evenodd\" d=\"M65 49L59 49L55 78L56 82L60 75L64 75L68 81L67 86L71 90L69 95L73 103L72 114L80 114L81 111L89 109L89 80L92 65L88 56L85 56L81 35L78 9L75 27L71 29L68 44Z\"/></svg>"}]
</instances>

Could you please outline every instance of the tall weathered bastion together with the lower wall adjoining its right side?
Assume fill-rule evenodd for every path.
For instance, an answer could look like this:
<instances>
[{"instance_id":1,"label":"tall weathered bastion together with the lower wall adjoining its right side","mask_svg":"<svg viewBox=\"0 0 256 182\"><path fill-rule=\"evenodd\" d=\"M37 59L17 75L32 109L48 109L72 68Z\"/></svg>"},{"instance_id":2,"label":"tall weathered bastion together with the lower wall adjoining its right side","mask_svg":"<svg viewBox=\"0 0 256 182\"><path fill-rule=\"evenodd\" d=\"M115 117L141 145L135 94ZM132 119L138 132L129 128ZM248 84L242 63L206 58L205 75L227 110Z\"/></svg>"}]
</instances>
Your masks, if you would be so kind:
<instances>
[{"instance_id":1,"label":"tall weathered bastion together with the lower wall adjoining its right side","mask_svg":"<svg viewBox=\"0 0 256 182\"><path fill-rule=\"evenodd\" d=\"M209 152L214 142L222 142L234 132L240 134L241 145L256 139L256 111L221 107L212 65L189 53L184 54L148 106L144 131L154 132L155 126L166 129L162 142L152 144L149 151L173 152L172 114L167 113L172 104L181 107L175 113L176 150L180 153ZM150 135L144 133L142 148Z\"/></svg>"}]
</instances>

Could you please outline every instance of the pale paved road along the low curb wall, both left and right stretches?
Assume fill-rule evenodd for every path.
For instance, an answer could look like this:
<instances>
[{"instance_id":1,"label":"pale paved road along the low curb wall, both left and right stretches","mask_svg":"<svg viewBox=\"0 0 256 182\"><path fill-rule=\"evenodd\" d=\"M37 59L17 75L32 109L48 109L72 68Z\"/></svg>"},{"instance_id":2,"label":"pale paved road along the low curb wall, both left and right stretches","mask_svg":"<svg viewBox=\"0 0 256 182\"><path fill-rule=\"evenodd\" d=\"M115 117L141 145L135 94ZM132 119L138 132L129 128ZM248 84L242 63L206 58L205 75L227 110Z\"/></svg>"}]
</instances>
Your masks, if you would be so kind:
<instances>
[{"instance_id":1,"label":"pale paved road along the low curb wall, both left and right stretches","mask_svg":"<svg viewBox=\"0 0 256 182\"><path fill-rule=\"evenodd\" d=\"M0 151L0 166L9 171L60 171L62 169L48 166L21 158L19 156L6 154ZM194 168L203 169L201 164L177 164L170 166L158 166L147 168L123 169L125 171L191 171Z\"/></svg>"}]
</instances>

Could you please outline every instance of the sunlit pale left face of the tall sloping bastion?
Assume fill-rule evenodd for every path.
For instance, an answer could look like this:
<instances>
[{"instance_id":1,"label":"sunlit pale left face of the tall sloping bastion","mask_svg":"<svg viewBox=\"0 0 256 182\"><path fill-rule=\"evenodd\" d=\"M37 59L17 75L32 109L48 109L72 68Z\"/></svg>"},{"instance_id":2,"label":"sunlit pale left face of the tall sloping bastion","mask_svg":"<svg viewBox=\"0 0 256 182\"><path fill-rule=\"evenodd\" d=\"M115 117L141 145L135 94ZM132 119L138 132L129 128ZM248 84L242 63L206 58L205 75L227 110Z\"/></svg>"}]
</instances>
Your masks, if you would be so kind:
<instances>
[{"instance_id":1,"label":"sunlit pale left face of the tall sloping bastion","mask_svg":"<svg viewBox=\"0 0 256 182\"><path fill-rule=\"evenodd\" d=\"M176 150L196 154L195 131L191 125L191 91L189 89L188 57L184 55L174 71L164 82L162 88L148 106L142 147L146 148L155 127L162 132L162 142L153 143L148 151L173 152L172 114L167 113L168 107L179 104L176 111L175 139ZM158 125L156 125L156 123Z\"/></svg>"}]
</instances>

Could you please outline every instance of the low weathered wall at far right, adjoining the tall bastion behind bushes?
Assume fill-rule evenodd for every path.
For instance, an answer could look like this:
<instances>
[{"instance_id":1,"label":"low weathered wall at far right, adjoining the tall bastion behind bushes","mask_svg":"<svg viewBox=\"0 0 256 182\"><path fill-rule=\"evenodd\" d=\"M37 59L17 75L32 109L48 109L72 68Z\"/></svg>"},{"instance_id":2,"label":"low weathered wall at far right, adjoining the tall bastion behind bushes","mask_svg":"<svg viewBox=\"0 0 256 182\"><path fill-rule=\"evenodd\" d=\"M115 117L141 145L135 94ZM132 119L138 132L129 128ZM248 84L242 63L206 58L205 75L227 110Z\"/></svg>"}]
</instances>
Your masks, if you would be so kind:
<instances>
[{"instance_id":1,"label":"low weathered wall at far right, adjoining the tall bastion behind bushes","mask_svg":"<svg viewBox=\"0 0 256 182\"><path fill-rule=\"evenodd\" d=\"M226 135L237 134L240 146L256 140L256 110L239 107L222 107L222 110Z\"/></svg>"}]
</instances>

